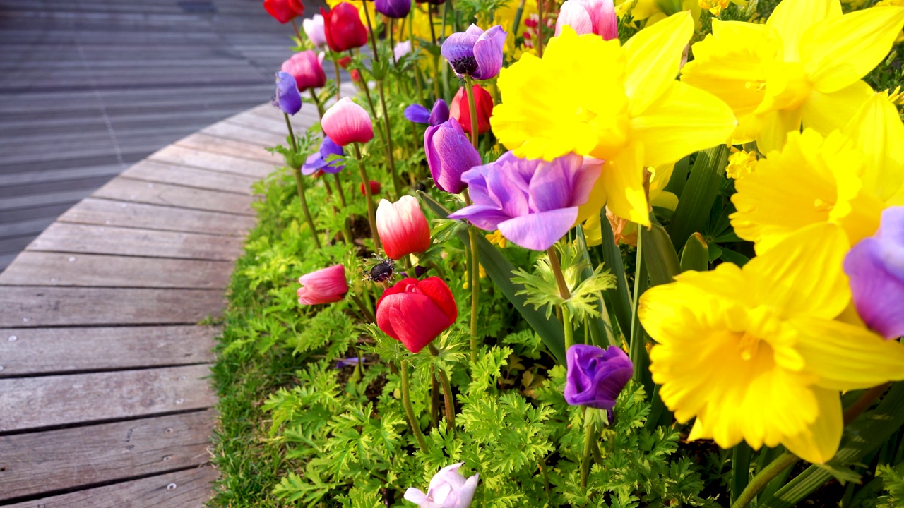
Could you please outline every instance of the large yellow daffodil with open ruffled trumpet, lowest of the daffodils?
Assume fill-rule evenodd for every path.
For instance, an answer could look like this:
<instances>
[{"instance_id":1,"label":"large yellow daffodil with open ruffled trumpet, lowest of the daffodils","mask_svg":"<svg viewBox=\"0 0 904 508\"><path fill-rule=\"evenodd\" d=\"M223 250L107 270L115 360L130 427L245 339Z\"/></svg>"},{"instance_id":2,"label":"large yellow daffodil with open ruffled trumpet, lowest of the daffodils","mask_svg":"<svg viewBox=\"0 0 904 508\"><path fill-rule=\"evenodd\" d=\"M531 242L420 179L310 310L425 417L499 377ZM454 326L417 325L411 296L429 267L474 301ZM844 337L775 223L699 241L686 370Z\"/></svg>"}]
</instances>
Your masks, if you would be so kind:
<instances>
[{"instance_id":1,"label":"large yellow daffodil with open ruffled trumpet, lowest of the daffodils","mask_svg":"<svg viewBox=\"0 0 904 508\"><path fill-rule=\"evenodd\" d=\"M834 318L851 300L843 231L814 224L744 268L687 271L640 297L653 381L690 438L784 445L809 462L842 437L839 390L904 378L904 345Z\"/></svg>"}]
</instances>

